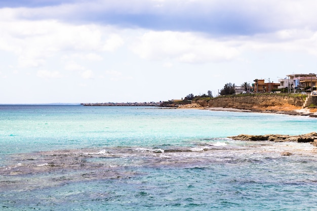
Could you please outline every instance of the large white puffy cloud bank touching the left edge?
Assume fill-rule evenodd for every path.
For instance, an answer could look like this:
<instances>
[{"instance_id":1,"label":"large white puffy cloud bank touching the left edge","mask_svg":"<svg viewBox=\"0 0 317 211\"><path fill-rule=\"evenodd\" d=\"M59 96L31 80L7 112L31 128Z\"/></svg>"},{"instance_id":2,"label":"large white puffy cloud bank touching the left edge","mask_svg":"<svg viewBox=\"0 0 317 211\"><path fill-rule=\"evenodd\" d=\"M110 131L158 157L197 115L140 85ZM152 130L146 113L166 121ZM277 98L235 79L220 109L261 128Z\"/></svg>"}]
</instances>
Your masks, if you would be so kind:
<instances>
[{"instance_id":1,"label":"large white puffy cloud bank touching the left edge","mask_svg":"<svg viewBox=\"0 0 317 211\"><path fill-rule=\"evenodd\" d=\"M95 52L114 51L123 45L109 27L69 25L55 20L0 20L0 50L18 56L20 67L39 67L61 52L87 52L85 59L102 60ZM110 34L110 35L108 35Z\"/></svg>"}]
</instances>

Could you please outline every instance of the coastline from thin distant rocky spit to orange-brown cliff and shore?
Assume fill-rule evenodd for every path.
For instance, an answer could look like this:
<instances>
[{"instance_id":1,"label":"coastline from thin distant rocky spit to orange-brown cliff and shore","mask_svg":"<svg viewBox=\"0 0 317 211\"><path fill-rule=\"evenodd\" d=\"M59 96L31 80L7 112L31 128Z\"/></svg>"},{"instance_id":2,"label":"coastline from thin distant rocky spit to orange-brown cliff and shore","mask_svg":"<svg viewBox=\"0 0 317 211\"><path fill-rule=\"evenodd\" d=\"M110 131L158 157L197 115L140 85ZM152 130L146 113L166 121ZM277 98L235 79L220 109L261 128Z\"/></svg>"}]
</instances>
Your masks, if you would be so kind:
<instances>
[{"instance_id":1,"label":"coastline from thin distant rocky spit to orange-brown cliff and shore","mask_svg":"<svg viewBox=\"0 0 317 211\"><path fill-rule=\"evenodd\" d=\"M240 112L265 112L288 115L302 115L317 117L317 108L311 104L317 104L317 99L304 106L305 95L234 95L216 98L196 98L193 100L170 100L163 102L135 102L135 103L81 103L83 106L156 106L165 108L192 108L222 111ZM317 96L316 96L317 97ZM313 97L312 97L313 98ZM316 102L315 102L316 101Z\"/></svg>"}]
</instances>

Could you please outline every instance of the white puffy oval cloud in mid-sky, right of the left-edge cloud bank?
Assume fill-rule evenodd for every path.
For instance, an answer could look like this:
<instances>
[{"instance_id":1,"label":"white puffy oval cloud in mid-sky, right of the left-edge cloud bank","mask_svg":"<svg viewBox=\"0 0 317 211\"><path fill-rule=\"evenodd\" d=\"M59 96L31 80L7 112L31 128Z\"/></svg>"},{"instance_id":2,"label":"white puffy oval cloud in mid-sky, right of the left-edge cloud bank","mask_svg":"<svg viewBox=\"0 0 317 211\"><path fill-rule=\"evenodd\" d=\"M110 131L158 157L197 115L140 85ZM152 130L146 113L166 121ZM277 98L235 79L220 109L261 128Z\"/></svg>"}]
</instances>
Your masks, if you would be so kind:
<instances>
[{"instance_id":1,"label":"white puffy oval cloud in mid-sky, right of the left-edge cloud bank","mask_svg":"<svg viewBox=\"0 0 317 211\"><path fill-rule=\"evenodd\" d=\"M173 31L146 32L133 44L132 51L144 59L176 59L184 63L225 61L239 55L239 51L225 41Z\"/></svg>"}]
</instances>

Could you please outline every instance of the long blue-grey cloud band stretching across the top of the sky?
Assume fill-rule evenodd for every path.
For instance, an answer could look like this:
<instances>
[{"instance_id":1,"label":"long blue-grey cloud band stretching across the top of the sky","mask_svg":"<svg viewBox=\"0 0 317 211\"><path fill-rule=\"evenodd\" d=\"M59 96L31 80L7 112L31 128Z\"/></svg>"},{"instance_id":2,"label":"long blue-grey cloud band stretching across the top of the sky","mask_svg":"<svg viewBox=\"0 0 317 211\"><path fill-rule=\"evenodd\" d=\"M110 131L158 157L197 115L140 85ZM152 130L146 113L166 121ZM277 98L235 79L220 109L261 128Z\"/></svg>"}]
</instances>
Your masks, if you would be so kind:
<instances>
[{"instance_id":1,"label":"long blue-grey cloud band stretching across the top of the sky","mask_svg":"<svg viewBox=\"0 0 317 211\"><path fill-rule=\"evenodd\" d=\"M28 20L54 19L76 24L93 22L121 28L204 32L221 36L254 35L289 28L317 28L317 4L311 0L18 2L20 8L2 9L0 14L8 16L10 13L10 17ZM10 2L3 5L14 7Z\"/></svg>"}]
</instances>

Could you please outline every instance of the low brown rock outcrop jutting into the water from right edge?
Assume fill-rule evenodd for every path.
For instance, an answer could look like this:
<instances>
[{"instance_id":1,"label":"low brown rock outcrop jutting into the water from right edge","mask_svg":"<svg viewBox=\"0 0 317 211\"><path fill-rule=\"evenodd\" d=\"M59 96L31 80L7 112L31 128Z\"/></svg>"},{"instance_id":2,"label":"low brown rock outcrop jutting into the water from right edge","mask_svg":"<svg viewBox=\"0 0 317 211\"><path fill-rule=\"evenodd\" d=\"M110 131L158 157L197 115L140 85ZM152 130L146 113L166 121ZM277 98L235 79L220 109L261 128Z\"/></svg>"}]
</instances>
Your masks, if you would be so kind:
<instances>
[{"instance_id":1,"label":"low brown rock outcrop jutting into the water from right edge","mask_svg":"<svg viewBox=\"0 0 317 211\"><path fill-rule=\"evenodd\" d=\"M302 142L302 143L311 143L314 146L317 146L317 133L312 132L309 134L303 135L245 135L241 134L238 136L228 137L233 140L242 140L242 141L273 141L273 142L283 142L283 141L293 141L293 142Z\"/></svg>"}]
</instances>

